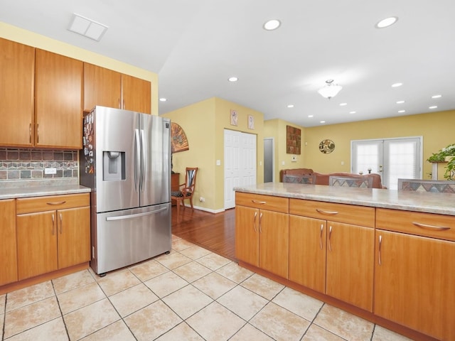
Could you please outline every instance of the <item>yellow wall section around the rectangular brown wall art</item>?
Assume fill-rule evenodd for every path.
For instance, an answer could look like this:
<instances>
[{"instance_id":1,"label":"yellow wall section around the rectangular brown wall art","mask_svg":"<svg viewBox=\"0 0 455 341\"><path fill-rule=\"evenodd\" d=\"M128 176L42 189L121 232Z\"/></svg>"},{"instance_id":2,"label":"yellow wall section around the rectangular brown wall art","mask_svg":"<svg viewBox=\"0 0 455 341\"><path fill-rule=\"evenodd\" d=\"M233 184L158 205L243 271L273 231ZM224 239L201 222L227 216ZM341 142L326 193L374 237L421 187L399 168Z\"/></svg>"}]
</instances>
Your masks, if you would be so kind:
<instances>
[{"instance_id":1,"label":"yellow wall section around the rectangular brown wall art","mask_svg":"<svg viewBox=\"0 0 455 341\"><path fill-rule=\"evenodd\" d=\"M286 126L294 126L301 129L301 154L296 155L296 161L291 161L293 154L286 152ZM302 126L297 126L282 119L269 119L264 122L264 137L274 138L274 153L275 153L275 164L274 164L274 182L279 182L279 171L288 168L304 168L304 141L305 141L305 129Z\"/></svg>"}]
</instances>

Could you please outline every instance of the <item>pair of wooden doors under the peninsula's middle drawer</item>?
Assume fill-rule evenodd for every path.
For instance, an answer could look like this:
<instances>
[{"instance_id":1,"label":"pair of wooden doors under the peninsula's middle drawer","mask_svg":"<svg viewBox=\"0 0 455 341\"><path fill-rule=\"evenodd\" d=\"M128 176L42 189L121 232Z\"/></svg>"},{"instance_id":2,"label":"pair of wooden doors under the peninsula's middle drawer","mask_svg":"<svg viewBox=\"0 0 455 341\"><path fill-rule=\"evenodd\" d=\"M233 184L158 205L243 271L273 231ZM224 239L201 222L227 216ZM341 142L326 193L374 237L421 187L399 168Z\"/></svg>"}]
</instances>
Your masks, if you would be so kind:
<instances>
[{"instance_id":1,"label":"pair of wooden doors under the peninsula's middle drawer","mask_svg":"<svg viewBox=\"0 0 455 341\"><path fill-rule=\"evenodd\" d=\"M370 227L291 215L289 280L373 311L374 233Z\"/></svg>"}]
</instances>

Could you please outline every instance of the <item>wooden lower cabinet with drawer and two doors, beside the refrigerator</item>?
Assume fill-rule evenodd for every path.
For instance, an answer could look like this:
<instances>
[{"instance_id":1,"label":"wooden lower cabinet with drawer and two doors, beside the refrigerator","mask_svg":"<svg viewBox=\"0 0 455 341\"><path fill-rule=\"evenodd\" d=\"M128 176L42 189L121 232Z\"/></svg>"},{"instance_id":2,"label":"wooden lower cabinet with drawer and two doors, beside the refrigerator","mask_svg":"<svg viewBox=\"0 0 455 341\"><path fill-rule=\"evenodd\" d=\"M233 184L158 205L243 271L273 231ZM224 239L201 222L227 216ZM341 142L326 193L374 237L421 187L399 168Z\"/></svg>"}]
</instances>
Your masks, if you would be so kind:
<instances>
[{"instance_id":1,"label":"wooden lower cabinet with drawer and two doors, beside the refrigerator","mask_svg":"<svg viewBox=\"0 0 455 341\"><path fill-rule=\"evenodd\" d=\"M88 194L18 199L19 281L90 261L88 205Z\"/></svg>"}]
</instances>

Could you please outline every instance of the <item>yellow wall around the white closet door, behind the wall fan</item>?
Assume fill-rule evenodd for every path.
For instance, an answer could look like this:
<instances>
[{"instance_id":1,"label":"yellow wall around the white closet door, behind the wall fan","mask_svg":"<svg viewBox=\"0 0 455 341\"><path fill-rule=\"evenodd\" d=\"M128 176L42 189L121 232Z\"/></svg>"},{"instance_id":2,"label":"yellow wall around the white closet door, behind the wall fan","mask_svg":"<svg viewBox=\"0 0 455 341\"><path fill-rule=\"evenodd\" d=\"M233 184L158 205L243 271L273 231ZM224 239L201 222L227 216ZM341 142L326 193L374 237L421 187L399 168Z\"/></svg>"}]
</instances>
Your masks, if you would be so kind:
<instances>
[{"instance_id":1,"label":"yellow wall around the white closet door, behind the wall fan","mask_svg":"<svg viewBox=\"0 0 455 341\"><path fill-rule=\"evenodd\" d=\"M230 125L230 110L237 110L238 125ZM255 129L248 129L247 117L255 117ZM185 131L189 150L173 154L173 171L184 180L186 167L198 167L193 204L210 212L224 210L224 130L257 135L257 183L264 182L264 116L260 112L220 98L210 98L161 115ZM220 166L216 161L220 160ZM205 202L200 202L204 197Z\"/></svg>"}]
</instances>

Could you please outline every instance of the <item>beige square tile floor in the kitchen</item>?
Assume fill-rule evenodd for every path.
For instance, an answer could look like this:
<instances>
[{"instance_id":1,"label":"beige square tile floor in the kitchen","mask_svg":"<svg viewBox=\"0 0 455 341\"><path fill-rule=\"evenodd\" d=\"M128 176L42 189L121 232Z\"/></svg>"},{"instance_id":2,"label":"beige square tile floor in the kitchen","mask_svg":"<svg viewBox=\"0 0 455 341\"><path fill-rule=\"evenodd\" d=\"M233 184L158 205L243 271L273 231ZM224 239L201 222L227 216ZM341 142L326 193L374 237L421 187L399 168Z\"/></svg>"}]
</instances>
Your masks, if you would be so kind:
<instances>
[{"instance_id":1,"label":"beige square tile floor in the kitchen","mask_svg":"<svg viewBox=\"0 0 455 341\"><path fill-rule=\"evenodd\" d=\"M409 340L178 237L100 278L91 269L0 296L1 340Z\"/></svg>"}]
</instances>

